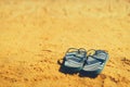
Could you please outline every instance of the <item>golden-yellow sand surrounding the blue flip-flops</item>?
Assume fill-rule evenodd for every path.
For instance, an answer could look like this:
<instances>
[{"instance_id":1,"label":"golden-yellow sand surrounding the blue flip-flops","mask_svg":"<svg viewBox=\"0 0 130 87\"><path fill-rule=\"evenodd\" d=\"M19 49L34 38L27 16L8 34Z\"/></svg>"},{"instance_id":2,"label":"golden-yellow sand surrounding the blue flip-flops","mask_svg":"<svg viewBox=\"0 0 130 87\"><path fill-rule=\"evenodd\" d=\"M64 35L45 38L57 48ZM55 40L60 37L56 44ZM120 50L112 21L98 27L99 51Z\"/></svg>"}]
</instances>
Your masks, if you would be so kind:
<instances>
[{"instance_id":1,"label":"golden-yellow sand surrounding the blue flip-flops","mask_svg":"<svg viewBox=\"0 0 130 87\"><path fill-rule=\"evenodd\" d=\"M70 47L107 50L102 74L58 72ZM130 0L0 0L0 87L130 87Z\"/></svg>"}]
</instances>

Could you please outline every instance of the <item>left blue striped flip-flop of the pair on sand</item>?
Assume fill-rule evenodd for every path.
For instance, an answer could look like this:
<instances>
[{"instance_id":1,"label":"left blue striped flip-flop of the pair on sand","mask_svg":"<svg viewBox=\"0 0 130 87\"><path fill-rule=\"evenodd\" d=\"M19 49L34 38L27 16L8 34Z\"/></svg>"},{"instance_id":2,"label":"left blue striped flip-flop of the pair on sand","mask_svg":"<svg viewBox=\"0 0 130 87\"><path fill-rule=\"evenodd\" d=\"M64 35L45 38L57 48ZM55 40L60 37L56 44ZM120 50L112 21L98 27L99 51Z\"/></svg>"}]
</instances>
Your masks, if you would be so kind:
<instances>
[{"instance_id":1,"label":"left blue striped flip-flop of the pair on sand","mask_svg":"<svg viewBox=\"0 0 130 87\"><path fill-rule=\"evenodd\" d=\"M78 73L82 70L86 61L87 51L83 48L69 48L63 60L63 69L69 73Z\"/></svg>"}]
</instances>

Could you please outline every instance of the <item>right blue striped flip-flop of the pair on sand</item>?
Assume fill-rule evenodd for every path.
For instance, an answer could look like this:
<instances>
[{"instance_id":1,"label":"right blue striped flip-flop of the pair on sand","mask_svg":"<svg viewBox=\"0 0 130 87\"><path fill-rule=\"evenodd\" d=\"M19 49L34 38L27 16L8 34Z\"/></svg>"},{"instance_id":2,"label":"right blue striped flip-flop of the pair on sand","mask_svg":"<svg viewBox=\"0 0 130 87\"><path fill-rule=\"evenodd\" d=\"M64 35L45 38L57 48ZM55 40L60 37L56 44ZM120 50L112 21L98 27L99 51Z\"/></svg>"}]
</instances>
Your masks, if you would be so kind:
<instances>
[{"instance_id":1,"label":"right blue striped flip-flop of the pair on sand","mask_svg":"<svg viewBox=\"0 0 130 87\"><path fill-rule=\"evenodd\" d=\"M93 51L93 54L87 57L87 61L81 71L86 74L99 75L108 60L108 53L103 50L90 51Z\"/></svg>"}]
</instances>

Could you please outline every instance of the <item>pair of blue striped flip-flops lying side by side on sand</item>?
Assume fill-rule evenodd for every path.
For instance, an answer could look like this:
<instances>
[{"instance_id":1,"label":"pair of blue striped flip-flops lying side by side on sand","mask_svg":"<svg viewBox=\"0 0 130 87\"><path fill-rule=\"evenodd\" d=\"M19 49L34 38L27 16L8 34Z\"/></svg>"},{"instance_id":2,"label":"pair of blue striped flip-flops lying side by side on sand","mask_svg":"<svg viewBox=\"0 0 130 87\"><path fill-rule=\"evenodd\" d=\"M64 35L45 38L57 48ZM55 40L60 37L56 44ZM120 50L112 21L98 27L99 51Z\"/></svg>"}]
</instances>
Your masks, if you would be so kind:
<instances>
[{"instance_id":1,"label":"pair of blue striped flip-flops lying side by side on sand","mask_svg":"<svg viewBox=\"0 0 130 87\"><path fill-rule=\"evenodd\" d=\"M83 48L69 48L63 59L62 67L66 72L87 74L100 74L108 60L108 53L104 50L89 50Z\"/></svg>"}]
</instances>

